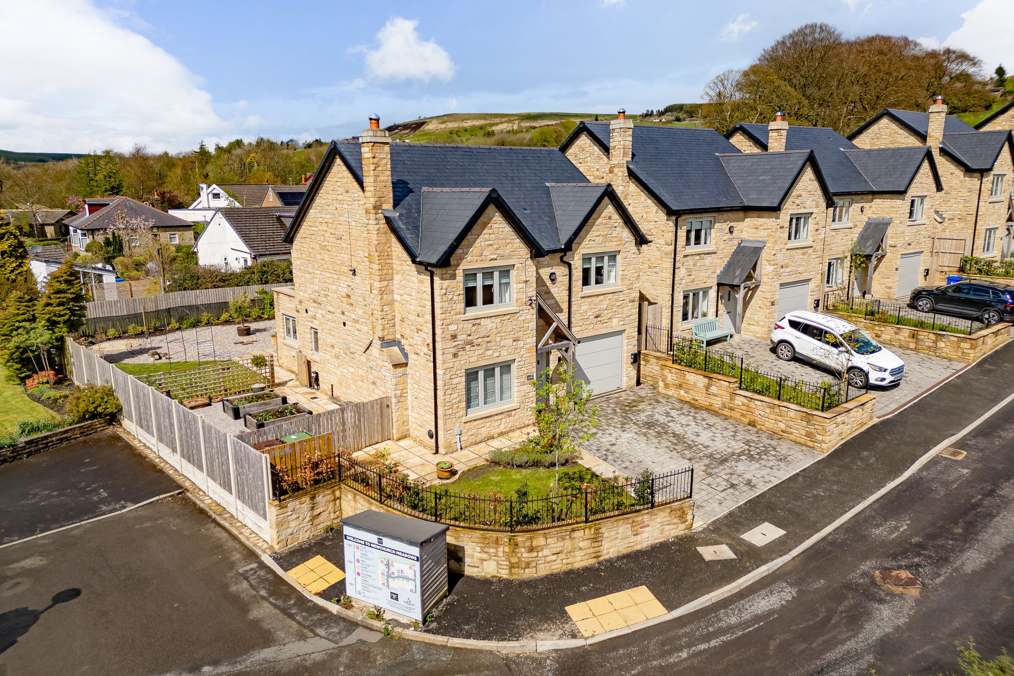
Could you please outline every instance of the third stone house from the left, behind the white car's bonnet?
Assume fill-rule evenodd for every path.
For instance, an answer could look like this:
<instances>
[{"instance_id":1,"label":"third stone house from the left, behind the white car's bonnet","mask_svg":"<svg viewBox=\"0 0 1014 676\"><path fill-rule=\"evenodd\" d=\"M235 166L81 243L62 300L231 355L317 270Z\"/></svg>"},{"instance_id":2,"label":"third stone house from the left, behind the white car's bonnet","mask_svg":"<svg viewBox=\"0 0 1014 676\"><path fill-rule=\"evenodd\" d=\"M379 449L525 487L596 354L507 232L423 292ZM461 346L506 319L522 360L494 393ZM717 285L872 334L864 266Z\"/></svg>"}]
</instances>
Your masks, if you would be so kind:
<instances>
[{"instance_id":1,"label":"third stone house from the left, behind the white car's bonnet","mask_svg":"<svg viewBox=\"0 0 1014 676\"><path fill-rule=\"evenodd\" d=\"M862 149L832 129L737 124L726 135L743 152L812 150L835 207L826 230L824 288L907 298L927 283L943 185L925 146ZM774 146L774 147L772 147ZM851 252L862 257L850 275Z\"/></svg>"}]
</instances>

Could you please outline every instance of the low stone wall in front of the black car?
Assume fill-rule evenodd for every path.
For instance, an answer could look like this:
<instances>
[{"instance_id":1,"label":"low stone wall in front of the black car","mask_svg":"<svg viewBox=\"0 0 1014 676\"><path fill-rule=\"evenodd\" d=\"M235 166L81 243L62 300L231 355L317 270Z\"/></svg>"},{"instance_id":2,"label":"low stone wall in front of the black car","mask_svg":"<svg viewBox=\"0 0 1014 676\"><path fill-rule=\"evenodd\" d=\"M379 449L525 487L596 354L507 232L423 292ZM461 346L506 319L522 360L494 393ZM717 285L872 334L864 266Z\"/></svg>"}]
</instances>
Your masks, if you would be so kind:
<instances>
[{"instance_id":1,"label":"low stone wall in front of the black car","mask_svg":"<svg viewBox=\"0 0 1014 676\"><path fill-rule=\"evenodd\" d=\"M913 328L895 324L881 324L867 321L852 314L829 312L851 321L872 335L878 343L891 348L911 350L930 357L949 359L971 364L984 355L1010 341L1010 324L997 324L971 335L933 331L928 328Z\"/></svg>"}]
</instances>

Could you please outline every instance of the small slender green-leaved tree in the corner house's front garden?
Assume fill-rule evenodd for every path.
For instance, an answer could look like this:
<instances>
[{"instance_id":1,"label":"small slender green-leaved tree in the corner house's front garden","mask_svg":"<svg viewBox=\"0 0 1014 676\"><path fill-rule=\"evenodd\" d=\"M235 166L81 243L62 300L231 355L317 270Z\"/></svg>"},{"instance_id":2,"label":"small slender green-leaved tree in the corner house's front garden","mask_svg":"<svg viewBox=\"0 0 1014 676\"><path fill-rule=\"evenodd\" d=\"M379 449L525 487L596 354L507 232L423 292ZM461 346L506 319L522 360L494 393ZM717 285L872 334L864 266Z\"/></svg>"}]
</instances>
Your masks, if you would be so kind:
<instances>
[{"instance_id":1,"label":"small slender green-leaved tree in the corner house's front garden","mask_svg":"<svg viewBox=\"0 0 1014 676\"><path fill-rule=\"evenodd\" d=\"M559 369L557 381L554 371L547 369L532 383L535 403L531 412L535 418L535 438L542 451L556 455L556 490L560 489L560 454L577 455L580 445L595 438L598 425L598 407L591 402L593 394L583 380L574 378L570 369Z\"/></svg>"}]
</instances>

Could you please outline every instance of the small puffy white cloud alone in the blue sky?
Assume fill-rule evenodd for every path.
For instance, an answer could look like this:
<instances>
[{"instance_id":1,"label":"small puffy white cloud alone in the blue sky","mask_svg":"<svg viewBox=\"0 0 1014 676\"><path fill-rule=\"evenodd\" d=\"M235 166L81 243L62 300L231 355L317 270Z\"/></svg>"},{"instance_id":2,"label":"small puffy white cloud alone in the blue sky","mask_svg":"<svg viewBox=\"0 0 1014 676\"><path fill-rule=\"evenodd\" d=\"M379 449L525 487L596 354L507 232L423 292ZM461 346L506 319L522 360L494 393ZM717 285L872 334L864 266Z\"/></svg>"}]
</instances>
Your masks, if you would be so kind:
<instances>
[{"instance_id":1,"label":"small puffy white cloud alone in the blue sky","mask_svg":"<svg viewBox=\"0 0 1014 676\"><path fill-rule=\"evenodd\" d=\"M449 80L454 76L450 55L435 42L423 41L418 19L394 16L377 32L374 50L356 48L366 54L366 71L380 80Z\"/></svg>"}]
</instances>

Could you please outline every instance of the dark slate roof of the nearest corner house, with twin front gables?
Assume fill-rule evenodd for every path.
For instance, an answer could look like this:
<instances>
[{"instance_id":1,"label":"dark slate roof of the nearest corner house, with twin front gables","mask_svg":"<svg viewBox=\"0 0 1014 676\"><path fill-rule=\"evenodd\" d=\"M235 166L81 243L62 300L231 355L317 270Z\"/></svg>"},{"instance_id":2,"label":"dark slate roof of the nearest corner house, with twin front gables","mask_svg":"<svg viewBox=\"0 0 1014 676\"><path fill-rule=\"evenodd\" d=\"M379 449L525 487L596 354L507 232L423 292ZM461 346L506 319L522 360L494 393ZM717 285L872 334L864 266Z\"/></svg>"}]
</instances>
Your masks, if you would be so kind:
<instances>
[{"instance_id":1,"label":"dark slate roof of the nearest corner house, with twin front gables","mask_svg":"<svg viewBox=\"0 0 1014 676\"><path fill-rule=\"evenodd\" d=\"M417 262L445 266L489 205L536 253L568 250L602 200L609 200L639 243L648 239L611 186L587 178L556 148L394 143L390 146L391 231ZM358 143L334 142L293 219L287 240L312 203L313 185L335 159L362 185Z\"/></svg>"}]
</instances>

